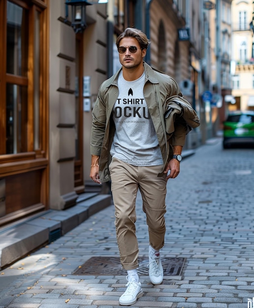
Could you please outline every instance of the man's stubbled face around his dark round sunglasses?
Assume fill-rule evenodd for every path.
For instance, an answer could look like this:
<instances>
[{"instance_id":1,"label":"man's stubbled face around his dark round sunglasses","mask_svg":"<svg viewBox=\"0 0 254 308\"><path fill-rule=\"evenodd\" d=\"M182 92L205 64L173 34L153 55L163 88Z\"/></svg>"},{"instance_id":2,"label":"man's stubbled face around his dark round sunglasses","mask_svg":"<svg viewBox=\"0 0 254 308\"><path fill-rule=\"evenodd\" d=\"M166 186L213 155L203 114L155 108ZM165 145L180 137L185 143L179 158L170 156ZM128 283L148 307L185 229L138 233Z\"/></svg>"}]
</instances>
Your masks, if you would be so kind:
<instances>
[{"instance_id":1,"label":"man's stubbled face around his dark round sunglasses","mask_svg":"<svg viewBox=\"0 0 254 308\"><path fill-rule=\"evenodd\" d=\"M119 53L119 61L125 68L135 68L139 65L143 65L143 58L146 54L146 49L141 50L138 40L134 37L124 37L120 40L119 47L136 46L137 52L131 53L127 48L123 54Z\"/></svg>"}]
</instances>

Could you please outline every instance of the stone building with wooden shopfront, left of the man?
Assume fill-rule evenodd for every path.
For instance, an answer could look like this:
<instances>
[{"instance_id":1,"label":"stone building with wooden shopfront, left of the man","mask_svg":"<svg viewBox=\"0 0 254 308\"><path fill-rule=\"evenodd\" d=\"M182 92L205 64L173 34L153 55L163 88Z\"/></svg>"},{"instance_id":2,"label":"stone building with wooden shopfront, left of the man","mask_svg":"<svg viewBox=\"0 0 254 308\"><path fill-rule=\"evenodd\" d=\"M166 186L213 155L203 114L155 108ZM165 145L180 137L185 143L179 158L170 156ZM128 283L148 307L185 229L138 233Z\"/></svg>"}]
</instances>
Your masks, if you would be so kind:
<instances>
[{"instance_id":1,"label":"stone building with wooden shopfront, left of the man","mask_svg":"<svg viewBox=\"0 0 254 308\"><path fill-rule=\"evenodd\" d=\"M83 35L64 0L0 1L0 227L85 192L92 102L107 78L106 8L87 7Z\"/></svg>"}]
</instances>

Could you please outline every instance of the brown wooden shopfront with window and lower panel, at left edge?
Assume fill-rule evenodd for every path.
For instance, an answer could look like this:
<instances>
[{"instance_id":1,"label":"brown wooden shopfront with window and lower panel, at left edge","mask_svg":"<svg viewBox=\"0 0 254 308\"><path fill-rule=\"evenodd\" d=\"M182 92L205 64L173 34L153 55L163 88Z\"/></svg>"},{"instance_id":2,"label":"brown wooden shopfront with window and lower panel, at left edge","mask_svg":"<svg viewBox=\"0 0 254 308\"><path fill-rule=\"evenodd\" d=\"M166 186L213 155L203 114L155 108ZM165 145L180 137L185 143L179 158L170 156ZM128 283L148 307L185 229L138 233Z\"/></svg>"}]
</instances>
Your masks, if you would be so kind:
<instances>
[{"instance_id":1,"label":"brown wooden shopfront with window and lower panel, at left edge","mask_svg":"<svg viewBox=\"0 0 254 308\"><path fill-rule=\"evenodd\" d=\"M0 227L48 209L47 0L0 1Z\"/></svg>"}]
</instances>

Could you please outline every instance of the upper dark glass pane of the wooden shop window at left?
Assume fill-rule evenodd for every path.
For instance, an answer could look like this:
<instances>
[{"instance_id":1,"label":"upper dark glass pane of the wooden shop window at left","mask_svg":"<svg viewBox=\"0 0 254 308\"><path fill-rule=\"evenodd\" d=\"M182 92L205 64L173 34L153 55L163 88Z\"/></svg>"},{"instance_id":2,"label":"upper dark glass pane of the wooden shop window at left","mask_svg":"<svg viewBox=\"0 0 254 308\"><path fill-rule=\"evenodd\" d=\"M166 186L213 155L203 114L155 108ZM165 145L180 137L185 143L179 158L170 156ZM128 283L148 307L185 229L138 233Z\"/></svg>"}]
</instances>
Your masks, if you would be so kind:
<instances>
[{"instance_id":1,"label":"upper dark glass pane of the wooden shop window at left","mask_svg":"<svg viewBox=\"0 0 254 308\"><path fill-rule=\"evenodd\" d=\"M28 11L7 1L7 62L10 74L27 76Z\"/></svg>"}]
</instances>

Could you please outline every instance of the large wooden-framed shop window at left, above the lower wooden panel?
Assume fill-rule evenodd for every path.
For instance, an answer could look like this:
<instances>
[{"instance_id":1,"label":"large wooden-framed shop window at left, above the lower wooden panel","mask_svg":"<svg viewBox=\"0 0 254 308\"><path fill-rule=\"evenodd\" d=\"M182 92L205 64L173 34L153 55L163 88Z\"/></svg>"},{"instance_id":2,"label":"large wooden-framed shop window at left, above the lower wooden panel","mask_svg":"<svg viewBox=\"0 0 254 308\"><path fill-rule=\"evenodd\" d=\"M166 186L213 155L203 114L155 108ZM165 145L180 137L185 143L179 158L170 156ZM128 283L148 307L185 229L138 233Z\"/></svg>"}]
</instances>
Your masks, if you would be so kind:
<instances>
[{"instance_id":1,"label":"large wooden-framed shop window at left, above the lower wooden panel","mask_svg":"<svg viewBox=\"0 0 254 308\"><path fill-rule=\"evenodd\" d=\"M26 0L1 1L0 154L42 151L42 13ZM4 32L4 29L6 29ZM36 156L35 155L35 156ZM34 158L36 158L34 156ZM0 157L1 158L1 157Z\"/></svg>"}]
</instances>

